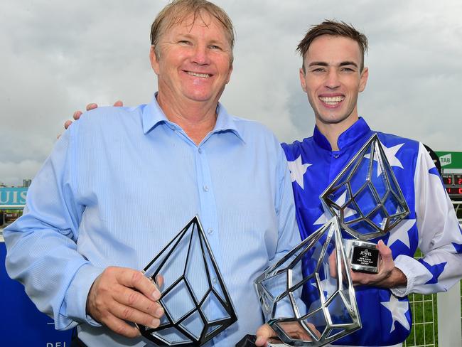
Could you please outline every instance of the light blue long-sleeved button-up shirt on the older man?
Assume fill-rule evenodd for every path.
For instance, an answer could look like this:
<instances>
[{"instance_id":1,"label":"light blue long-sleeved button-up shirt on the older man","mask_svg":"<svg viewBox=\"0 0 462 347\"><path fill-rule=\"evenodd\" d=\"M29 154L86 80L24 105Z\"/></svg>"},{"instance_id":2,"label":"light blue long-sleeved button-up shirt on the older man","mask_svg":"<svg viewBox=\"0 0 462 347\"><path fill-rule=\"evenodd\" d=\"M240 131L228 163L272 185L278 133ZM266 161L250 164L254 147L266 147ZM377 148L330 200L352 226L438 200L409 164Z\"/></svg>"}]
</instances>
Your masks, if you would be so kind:
<instances>
[{"instance_id":1,"label":"light blue long-sleeved button-up shirt on the older man","mask_svg":"<svg viewBox=\"0 0 462 347\"><path fill-rule=\"evenodd\" d=\"M88 346L144 346L85 315L105 267L143 269L199 215L238 321L210 345L234 346L263 323L253 280L300 242L284 152L257 122L217 108L197 146L154 97L100 107L60 137L33 179L24 215L4 230L11 277L57 329Z\"/></svg>"}]
</instances>

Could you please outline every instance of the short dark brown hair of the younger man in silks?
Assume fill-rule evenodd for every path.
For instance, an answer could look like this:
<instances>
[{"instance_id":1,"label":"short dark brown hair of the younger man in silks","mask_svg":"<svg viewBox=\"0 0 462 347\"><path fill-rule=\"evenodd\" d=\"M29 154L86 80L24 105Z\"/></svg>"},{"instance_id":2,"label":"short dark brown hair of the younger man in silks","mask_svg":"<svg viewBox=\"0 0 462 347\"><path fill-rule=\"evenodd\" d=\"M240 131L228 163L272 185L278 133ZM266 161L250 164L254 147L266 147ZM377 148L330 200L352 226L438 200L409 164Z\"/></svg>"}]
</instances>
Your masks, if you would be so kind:
<instances>
[{"instance_id":1,"label":"short dark brown hair of the younger man in silks","mask_svg":"<svg viewBox=\"0 0 462 347\"><path fill-rule=\"evenodd\" d=\"M318 38L322 35L330 36L342 36L345 38L351 38L353 41L358 42L361 51L361 66L360 70L364 68L364 53L367 52L367 37L357 31L353 25L347 24L344 21L333 21L326 19L321 24L316 24L311 26L311 28L306 32L305 37L300 41L299 46L297 46L297 52L300 53L301 58L303 59L303 71L305 70L304 60L308 48L310 48L311 43L315 38Z\"/></svg>"}]
</instances>

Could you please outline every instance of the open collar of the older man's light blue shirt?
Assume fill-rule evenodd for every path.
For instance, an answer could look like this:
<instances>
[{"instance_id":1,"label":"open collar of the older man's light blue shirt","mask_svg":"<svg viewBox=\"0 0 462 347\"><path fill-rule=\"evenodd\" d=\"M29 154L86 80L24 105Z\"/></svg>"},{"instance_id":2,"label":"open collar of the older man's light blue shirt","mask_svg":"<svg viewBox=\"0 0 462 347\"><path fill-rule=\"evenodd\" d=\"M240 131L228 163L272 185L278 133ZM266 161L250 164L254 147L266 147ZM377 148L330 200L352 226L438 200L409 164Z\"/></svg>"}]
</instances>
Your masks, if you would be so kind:
<instances>
[{"instance_id":1,"label":"open collar of the older man's light blue shirt","mask_svg":"<svg viewBox=\"0 0 462 347\"><path fill-rule=\"evenodd\" d=\"M169 127L172 129L181 129L178 124L169 121L166 115L163 113L163 110L159 106L159 103L156 99L157 92L154 95L152 101L144 107L143 110L143 132L147 134L157 127L157 125L161 123L168 124ZM237 127L235 118L230 116L225 110L225 107L218 102L217 105L217 121L215 122L215 127L213 128L210 134L220 133L220 132L232 132L235 134L239 139L244 142L244 138L242 137L242 133L240 129ZM209 134L209 136L210 136Z\"/></svg>"}]
</instances>

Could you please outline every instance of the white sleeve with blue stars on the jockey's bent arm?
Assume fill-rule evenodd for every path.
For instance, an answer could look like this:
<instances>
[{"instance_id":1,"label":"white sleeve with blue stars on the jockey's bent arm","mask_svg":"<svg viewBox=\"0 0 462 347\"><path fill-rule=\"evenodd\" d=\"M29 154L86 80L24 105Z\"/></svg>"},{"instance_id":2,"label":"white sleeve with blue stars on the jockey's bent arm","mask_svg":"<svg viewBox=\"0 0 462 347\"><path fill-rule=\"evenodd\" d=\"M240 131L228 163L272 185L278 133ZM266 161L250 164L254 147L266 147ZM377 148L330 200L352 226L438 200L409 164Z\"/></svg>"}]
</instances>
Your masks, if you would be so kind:
<instances>
[{"instance_id":1,"label":"white sleeve with blue stars on the jockey's bent arm","mask_svg":"<svg viewBox=\"0 0 462 347\"><path fill-rule=\"evenodd\" d=\"M414 172L420 260L399 255L395 266L407 276L407 287L392 289L400 297L413 292L446 292L462 277L462 233L433 161L422 144Z\"/></svg>"}]
</instances>

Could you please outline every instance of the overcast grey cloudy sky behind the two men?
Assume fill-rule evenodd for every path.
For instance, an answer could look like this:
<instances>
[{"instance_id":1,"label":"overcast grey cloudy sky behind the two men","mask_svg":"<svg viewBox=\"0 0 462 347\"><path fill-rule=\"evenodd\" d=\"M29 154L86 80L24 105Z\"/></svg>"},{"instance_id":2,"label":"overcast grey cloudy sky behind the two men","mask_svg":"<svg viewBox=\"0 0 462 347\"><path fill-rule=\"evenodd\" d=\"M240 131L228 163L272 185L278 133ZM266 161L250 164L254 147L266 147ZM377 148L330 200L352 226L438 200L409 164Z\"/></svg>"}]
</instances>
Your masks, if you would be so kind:
<instances>
[{"instance_id":1,"label":"overcast grey cloudy sky behind the two men","mask_svg":"<svg viewBox=\"0 0 462 347\"><path fill-rule=\"evenodd\" d=\"M88 102L151 100L149 31L167 0L0 1L0 182L33 178ZM383 132L462 151L460 0L217 0L235 23L222 102L284 142L313 132L295 53L308 26L336 18L370 41L359 112Z\"/></svg>"}]
</instances>

